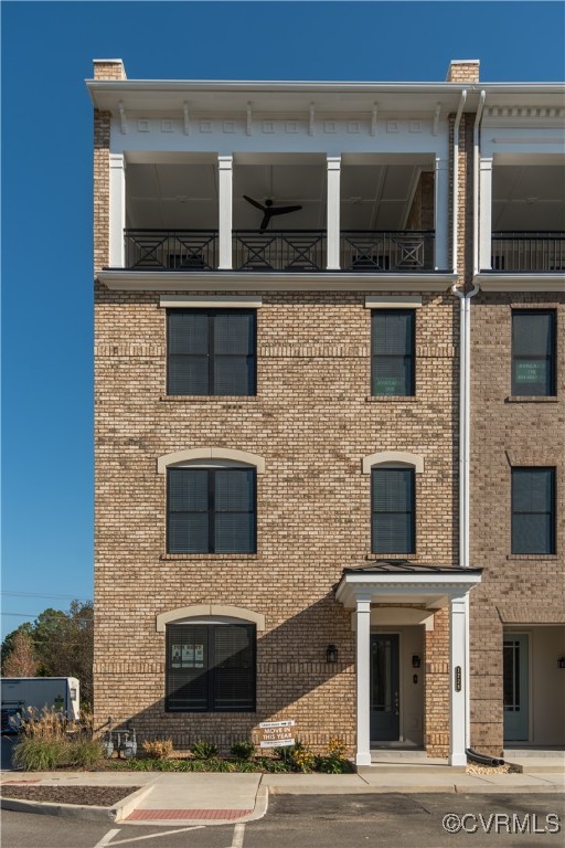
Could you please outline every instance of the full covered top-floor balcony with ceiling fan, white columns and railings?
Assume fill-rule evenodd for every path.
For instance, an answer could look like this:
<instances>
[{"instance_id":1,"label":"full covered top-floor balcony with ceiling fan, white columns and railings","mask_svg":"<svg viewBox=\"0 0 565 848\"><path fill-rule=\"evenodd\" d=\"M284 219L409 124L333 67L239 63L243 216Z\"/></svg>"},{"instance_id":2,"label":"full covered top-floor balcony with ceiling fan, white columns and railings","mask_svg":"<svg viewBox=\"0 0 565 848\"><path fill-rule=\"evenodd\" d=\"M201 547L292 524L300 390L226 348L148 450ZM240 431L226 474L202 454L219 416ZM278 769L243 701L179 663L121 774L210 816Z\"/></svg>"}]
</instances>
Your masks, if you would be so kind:
<instances>
[{"instance_id":1,"label":"full covered top-floor balcony with ceiling fan, white columns and railings","mask_svg":"<svg viewBox=\"0 0 565 848\"><path fill-rule=\"evenodd\" d=\"M447 265L434 168L318 153L128 162L114 257L152 272L430 273Z\"/></svg>"}]
</instances>

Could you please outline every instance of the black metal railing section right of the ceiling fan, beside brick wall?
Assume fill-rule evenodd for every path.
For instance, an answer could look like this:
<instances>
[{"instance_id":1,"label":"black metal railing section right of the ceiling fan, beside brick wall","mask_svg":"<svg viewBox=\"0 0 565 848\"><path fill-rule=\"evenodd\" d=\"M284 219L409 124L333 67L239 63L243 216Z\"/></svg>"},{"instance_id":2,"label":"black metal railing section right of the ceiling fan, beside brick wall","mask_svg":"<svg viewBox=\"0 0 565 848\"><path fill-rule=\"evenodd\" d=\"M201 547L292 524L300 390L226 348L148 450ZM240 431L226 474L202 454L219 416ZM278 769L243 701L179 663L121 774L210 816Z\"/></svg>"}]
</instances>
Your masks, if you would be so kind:
<instances>
[{"instance_id":1,"label":"black metal railing section right of the ceiling fan, beside brick wall","mask_svg":"<svg viewBox=\"0 0 565 848\"><path fill-rule=\"evenodd\" d=\"M419 272L434 268L434 231L341 232L343 271Z\"/></svg>"}]
</instances>

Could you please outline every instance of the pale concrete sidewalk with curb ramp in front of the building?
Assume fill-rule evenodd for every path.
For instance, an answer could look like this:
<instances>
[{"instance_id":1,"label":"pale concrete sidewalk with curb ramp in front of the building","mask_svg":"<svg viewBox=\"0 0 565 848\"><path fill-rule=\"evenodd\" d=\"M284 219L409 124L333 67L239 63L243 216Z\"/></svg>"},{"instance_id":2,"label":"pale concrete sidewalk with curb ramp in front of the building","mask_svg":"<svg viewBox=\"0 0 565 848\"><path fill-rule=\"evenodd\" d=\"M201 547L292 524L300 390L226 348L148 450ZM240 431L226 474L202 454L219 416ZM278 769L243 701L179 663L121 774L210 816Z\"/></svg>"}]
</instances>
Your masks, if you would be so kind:
<instances>
[{"instance_id":1,"label":"pale concrete sidewalk with curb ramp in front of the building","mask_svg":"<svg viewBox=\"0 0 565 848\"><path fill-rule=\"evenodd\" d=\"M221 825L252 822L267 810L269 794L343 795L358 793L562 793L565 772L532 771L521 763L521 774L465 774L445 766L426 765L392 770L379 766L360 774L214 774L159 772L4 772L2 783L43 786L122 786L124 799L111 808L98 807L99 817L122 824ZM540 767L541 763L532 763ZM141 786L128 796L128 787ZM8 809L75 815L93 818L95 808L67 804L2 799ZM90 815L88 815L90 812Z\"/></svg>"}]
</instances>

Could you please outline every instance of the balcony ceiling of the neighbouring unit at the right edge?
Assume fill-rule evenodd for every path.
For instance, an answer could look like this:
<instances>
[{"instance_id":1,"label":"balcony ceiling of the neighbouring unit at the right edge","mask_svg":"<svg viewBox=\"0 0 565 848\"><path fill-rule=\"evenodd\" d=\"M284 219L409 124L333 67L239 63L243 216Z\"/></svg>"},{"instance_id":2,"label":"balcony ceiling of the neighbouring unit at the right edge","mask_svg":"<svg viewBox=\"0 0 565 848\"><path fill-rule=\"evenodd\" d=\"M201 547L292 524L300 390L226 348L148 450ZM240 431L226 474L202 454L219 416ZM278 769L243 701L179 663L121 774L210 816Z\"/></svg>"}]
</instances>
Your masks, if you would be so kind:
<instances>
[{"instance_id":1,"label":"balcony ceiling of the neighbouring unit at the right edge","mask_svg":"<svg viewBox=\"0 0 565 848\"><path fill-rule=\"evenodd\" d=\"M565 230L565 168L494 166L492 230Z\"/></svg>"}]
</instances>

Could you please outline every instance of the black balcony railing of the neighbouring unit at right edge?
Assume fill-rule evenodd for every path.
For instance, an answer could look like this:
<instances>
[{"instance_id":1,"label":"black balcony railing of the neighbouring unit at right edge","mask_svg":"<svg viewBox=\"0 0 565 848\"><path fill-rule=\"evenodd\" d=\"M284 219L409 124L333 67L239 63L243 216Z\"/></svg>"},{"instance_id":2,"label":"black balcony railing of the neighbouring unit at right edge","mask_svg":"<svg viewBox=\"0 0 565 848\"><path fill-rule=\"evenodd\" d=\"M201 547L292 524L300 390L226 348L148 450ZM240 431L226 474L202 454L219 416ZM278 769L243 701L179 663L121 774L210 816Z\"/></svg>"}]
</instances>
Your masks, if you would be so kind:
<instances>
[{"instance_id":1,"label":"black balcony railing of the neighbouring unit at right edge","mask_svg":"<svg viewBox=\"0 0 565 848\"><path fill-rule=\"evenodd\" d=\"M492 271L565 272L565 232L492 233Z\"/></svg>"}]
</instances>

